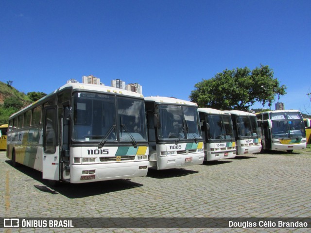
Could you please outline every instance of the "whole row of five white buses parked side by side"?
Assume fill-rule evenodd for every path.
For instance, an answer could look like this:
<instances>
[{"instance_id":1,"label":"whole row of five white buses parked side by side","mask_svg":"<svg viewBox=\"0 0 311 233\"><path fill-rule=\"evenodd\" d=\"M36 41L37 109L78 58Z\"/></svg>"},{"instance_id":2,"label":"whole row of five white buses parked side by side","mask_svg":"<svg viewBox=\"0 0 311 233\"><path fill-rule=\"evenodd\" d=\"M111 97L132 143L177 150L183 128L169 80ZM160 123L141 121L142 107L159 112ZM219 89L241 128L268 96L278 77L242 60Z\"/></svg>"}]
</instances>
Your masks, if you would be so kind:
<instances>
[{"instance_id":1,"label":"whole row of five white buses parked side by side","mask_svg":"<svg viewBox=\"0 0 311 233\"><path fill-rule=\"evenodd\" d=\"M68 83L13 114L7 133L13 166L68 183L146 176L148 168L199 165L261 147L304 149L300 112L256 116L82 83Z\"/></svg>"}]
</instances>

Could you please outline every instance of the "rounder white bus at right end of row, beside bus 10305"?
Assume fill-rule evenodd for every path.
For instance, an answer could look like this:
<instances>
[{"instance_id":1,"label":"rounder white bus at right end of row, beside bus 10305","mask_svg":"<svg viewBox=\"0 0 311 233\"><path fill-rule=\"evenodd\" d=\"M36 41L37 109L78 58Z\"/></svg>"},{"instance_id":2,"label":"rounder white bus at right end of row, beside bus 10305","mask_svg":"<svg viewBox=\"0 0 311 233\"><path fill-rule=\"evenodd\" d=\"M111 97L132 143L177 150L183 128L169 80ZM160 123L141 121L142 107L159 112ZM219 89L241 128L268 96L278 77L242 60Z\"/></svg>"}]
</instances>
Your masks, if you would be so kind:
<instances>
[{"instance_id":1,"label":"rounder white bus at right end of row, beside bus 10305","mask_svg":"<svg viewBox=\"0 0 311 233\"><path fill-rule=\"evenodd\" d=\"M263 150L293 150L307 147L306 131L298 110L257 113Z\"/></svg>"}]
</instances>

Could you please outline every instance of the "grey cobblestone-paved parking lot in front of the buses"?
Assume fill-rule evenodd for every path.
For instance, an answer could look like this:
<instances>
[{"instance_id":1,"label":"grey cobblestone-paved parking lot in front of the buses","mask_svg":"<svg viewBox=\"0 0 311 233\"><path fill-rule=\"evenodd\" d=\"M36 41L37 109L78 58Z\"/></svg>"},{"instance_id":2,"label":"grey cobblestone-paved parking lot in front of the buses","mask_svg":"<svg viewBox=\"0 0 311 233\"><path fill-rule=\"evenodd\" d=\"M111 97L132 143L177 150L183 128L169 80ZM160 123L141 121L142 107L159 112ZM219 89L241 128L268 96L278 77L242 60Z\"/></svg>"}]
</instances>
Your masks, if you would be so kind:
<instances>
[{"instance_id":1,"label":"grey cobblestone-paved parking lot in front of the buses","mask_svg":"<svg viewBox=\"0 0 311 233\"><path fill-rule=\"evenodd\" d=\"M3 217L310 217L311 151L248 154L147 177L52 187L0 152ZM50 232L51 229L0 229ZM296 229L307 232L310 229ZM64 232L64 229L53 229ZM66 229L66 232L257 232L263 229ZM293 229L267 229L292 232Z\"/></svg>"}]
</instances>

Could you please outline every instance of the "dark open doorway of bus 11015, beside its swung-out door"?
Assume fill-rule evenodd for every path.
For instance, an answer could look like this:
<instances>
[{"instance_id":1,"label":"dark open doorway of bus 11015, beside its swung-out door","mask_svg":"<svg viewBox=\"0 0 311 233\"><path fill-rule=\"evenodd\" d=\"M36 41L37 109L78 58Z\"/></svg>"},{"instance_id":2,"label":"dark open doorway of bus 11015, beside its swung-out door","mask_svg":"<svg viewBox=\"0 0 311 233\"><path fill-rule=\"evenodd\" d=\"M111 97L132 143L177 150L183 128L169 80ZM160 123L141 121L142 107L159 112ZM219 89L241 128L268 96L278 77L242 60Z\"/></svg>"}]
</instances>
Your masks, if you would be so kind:
<instances>
[{"instance_id":1,"label":"dark open doorway of bus 11015, beside its swung-out door","mask_svg":"<svg viewBox=\"0 0 311 233\"><path fill-rule=\"evenodd\" d=\"M70 151L69 151L69 132L70 132L70 110L69 105L63 105L61 119L61 151L60 151L60 174L61 180L70 182Z\"/></svg>"}]
</instances>

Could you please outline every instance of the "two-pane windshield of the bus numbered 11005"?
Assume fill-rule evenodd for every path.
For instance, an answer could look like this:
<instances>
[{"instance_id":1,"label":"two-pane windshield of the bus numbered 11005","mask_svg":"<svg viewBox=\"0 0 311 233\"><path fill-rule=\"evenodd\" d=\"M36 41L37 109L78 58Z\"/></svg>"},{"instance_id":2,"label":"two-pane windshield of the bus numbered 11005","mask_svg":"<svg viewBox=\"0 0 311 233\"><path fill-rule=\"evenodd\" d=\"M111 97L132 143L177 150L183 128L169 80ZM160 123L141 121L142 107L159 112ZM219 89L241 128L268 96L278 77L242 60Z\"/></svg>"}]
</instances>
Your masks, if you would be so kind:
<instances>
[{"instance_id":1,"label":"two-pane windshield of the bus numbered 11005","mask_svg":"<svg viewBox=\"0 0 311 233\"><path fill-rule=\"evenodd\" d=\"M180 105L158 105L160 128L159 139L193 139L196 141L201 137L198 127L197 108Z\"/></svg>"}]
</instances>

